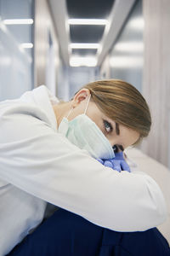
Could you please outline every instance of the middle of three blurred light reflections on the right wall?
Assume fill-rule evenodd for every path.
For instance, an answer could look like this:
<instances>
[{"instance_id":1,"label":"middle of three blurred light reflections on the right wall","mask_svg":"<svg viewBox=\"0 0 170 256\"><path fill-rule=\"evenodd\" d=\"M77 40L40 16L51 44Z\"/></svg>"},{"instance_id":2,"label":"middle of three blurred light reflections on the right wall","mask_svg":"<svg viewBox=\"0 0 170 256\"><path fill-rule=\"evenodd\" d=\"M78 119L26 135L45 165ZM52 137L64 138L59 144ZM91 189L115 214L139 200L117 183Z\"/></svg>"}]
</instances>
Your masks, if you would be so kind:
<instances>
[{"instance_id":1,"label":"middle of three blurred light reflections on the right wall","mask_svg":"<svg viewBox=\"0 0 170 256\"><path fill-rule=\"evenodd\" d=\"M116 44L115 50L126 52L141 52L144 50L144 44L142 42L122 42Z\"/></svg>"}]
</instances>

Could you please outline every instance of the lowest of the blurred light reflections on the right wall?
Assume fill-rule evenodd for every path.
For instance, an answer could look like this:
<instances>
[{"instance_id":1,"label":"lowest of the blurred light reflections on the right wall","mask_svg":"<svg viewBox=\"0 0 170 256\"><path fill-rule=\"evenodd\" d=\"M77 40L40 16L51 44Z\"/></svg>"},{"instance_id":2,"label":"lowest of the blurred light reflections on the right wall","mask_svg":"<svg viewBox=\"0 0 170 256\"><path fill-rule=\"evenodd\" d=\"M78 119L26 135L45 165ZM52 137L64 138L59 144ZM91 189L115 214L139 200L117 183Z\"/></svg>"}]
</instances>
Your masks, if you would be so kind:
<instances>
[{"instance_id":1,"label":"lowest of the blurred light reflections on the right wall","mask_svg":"<svg viewBox=\"0 0 170 256\"><path fill-rule=\"evenodd\" d=\"M142 56L112 56L110 64L115 68L139 68L143 67L143 61Z\"/></svg>"}]
</instances>

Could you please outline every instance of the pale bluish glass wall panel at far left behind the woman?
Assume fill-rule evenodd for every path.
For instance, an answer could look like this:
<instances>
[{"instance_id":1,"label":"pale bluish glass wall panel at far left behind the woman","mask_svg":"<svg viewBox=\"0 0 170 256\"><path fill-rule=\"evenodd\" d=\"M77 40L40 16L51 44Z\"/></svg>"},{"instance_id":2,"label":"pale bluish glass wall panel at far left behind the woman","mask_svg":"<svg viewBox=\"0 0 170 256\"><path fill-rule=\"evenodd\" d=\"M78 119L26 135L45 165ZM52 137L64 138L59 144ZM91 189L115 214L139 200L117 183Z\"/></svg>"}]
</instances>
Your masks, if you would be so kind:
<instances>
[{"instance_id":1,"label":"pale bluish glass wall panel at far left behind the woman","mask_svg":"<svg viewBox=\"0 0 170 256\"><path fill-rule=\"evenodd\" d=\"M33 25L3 25L6 19L27 18L33 18L31 0L0 0L0 101L33 87L32 50L20 48L33 42Z\"/></svg>"}]
</instances>

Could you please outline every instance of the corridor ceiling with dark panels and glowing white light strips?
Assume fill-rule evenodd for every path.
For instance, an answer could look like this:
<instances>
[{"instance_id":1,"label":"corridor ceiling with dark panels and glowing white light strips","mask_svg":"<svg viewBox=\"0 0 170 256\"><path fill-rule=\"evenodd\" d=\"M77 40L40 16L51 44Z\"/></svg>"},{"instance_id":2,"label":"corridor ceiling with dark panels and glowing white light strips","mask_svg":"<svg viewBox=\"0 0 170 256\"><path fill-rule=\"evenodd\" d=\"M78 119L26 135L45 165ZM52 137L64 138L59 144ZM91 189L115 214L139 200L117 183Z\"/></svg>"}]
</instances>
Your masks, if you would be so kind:
<instances>
[{"instance_id":1,"label":"corridor ceiling with dark panels and glowing white light strips","mask_svg":"<svg viewBox=\"0 0 170 256\"><path fill-rule=\"evenodd\" d=\"M121 32L135 1L48 0L65 65L99 66Z\"/></svg>"}]
</instances>

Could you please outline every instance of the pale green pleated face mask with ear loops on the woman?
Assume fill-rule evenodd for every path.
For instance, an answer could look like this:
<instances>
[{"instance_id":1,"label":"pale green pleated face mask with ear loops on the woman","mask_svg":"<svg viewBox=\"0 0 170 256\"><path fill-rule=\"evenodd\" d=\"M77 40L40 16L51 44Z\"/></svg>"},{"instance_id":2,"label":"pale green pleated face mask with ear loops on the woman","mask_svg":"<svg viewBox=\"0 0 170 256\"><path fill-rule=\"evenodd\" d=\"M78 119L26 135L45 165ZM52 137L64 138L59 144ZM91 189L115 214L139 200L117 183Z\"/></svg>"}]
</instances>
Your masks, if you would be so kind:
<instances>
[{"instance_id":1,"label":"pale green pleated face mask with ear loops on the woman","mask_svg":"<svg viewBox=\"0 0 170 256\"><path fill-rule=\"evenodd\" d=\"M90 96L88 97L88 102ZM106 160L114 158L115 154L111 143L94 121L86 115L88 102L84 113L77 115L71 121L68 120L70 111L67 118L61 120L58 131L78 148L86 149L95 159Z\"/></svg>"}]
</instances>

